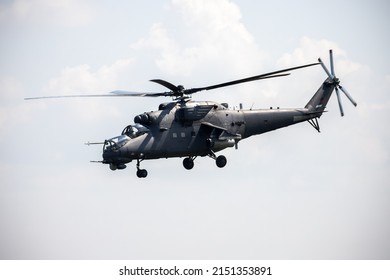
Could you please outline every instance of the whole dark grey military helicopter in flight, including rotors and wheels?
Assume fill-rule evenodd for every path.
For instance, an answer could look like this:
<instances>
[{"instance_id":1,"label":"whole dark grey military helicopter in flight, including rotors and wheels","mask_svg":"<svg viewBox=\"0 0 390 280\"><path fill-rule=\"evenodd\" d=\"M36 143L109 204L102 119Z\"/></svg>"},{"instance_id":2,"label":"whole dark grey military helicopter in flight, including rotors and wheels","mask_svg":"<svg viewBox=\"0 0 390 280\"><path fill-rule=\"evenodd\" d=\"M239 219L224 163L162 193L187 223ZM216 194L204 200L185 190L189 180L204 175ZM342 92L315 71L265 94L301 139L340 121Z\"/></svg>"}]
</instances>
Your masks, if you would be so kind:
<instances>
[{"instance_id":1,"label":"whole dark grey military helicopter in flight, including rotors and wheels","mask_svg":"<svg viewBox=\"0 0 390 280\"><path fill-rule=\"evenodd\" d=\"M140 167L141 162L151 159L184 158L183 166L190 170L194 167L194 160L197 157L208 156L215 160L219 168L223 168L227 159L223 155L217 156L216 153L231 147L237 149L238 142L253 135L304 121L309 122L320 132L318 119L325 112L325 107L334 90L341 116L344 116L344 111L339 90L354 106L357 105L347 90L340 85L340 80L334 71L332 50L329 54L330 71L319 58L317 63L200 88L185 89L182 85L175 86L165 80L154 79L151 82L160 84L169 91L143 93L116 90L107 95L46 96L26 99L101 96L172 97L172 102L160 104L157 111L135 116L135 124L127 125L119 136L104 142L86 143L87 145L103 145L103 160L97 162L108 164L111 170L121 170L125 169L128 163L136 161L136 174L139 178L145 178L148 175L147 170ZM287 76L290 73L286 72L318 64L322 66L328 77L303 108L281 109L277 107L275 109L244 110L240 105L240 108L229 109L226 103L191 99L191 95L199 91Z\"/></svg>"}]
</instances>

